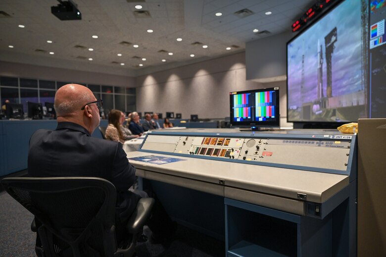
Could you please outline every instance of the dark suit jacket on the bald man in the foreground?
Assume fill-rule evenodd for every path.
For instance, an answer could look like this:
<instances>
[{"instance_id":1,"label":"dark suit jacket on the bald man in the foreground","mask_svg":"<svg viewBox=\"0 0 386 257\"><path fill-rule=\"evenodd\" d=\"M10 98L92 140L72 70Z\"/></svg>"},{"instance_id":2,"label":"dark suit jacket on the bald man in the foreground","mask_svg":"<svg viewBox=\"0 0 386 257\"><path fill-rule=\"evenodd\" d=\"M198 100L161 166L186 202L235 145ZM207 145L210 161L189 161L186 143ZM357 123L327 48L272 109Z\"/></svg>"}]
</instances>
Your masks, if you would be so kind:
<instances>
[{"instance_id":1,"label":"dark suit jacket on the bald man in the foreground","mask_svg":"<svg viewBox=\"0 0 386 257\"><path fill-rule=\"evenodd\" d=\"M54 131L40 129L28 152L31 177L99 177L117 190L116 212L121 221L130 217L139 196L128 191L135 182L135 168L128 162L121 143L98 139L82 126L59 122Z\"/></svg>"}]
</instances>

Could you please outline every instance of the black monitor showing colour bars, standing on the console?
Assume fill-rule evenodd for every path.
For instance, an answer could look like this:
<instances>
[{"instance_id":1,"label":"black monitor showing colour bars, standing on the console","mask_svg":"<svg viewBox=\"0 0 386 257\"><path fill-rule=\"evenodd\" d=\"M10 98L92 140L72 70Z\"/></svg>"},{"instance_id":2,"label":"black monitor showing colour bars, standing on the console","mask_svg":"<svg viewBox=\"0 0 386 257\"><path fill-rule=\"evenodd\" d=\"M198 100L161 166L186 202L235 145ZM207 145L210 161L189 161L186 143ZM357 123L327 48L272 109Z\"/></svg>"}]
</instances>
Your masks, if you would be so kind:
<instances>
[{"instance_id":1,"label":"black monitor showing colour bars, standing on the console","mask_svg":"<svg viewBox=\"0 0 386 257\"><path fill-rule=\"evenodd\" d=\"M232 127L280 127L278 87L230 92L229 96Z\"/></svg>"}]
</instances>

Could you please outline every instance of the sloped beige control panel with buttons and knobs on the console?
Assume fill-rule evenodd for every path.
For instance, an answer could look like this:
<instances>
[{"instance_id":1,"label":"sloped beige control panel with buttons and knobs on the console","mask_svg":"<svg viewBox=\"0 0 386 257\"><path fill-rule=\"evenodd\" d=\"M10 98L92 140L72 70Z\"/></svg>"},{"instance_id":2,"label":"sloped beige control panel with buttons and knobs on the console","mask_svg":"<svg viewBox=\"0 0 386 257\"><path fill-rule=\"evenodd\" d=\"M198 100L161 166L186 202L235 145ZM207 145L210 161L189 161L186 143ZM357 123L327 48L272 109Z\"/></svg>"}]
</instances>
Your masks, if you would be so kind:
<instances>
[{"instance_id":1,"label":"sloped beige control panel with buttons and knobs on the console","mask_svg":"<svg viewBox=\"0 0 386 257\"><path fill-rule=\"evenodd\" d=\"M160 138L157 138L160 137ZM169 141L170 140L170 141ZM157 142L156 145L151 142ZM165 148L161 142L170 147ZM243 163L277 163L323 169L347 170L351 140L318 138L248 138L214 136L148 135L144 142L153 151ZM172 147L174 146L174 147ZM167 149L167 150L166 150ZM166 150L166 151L165 151Z\"/></svg>"}]
</instances>

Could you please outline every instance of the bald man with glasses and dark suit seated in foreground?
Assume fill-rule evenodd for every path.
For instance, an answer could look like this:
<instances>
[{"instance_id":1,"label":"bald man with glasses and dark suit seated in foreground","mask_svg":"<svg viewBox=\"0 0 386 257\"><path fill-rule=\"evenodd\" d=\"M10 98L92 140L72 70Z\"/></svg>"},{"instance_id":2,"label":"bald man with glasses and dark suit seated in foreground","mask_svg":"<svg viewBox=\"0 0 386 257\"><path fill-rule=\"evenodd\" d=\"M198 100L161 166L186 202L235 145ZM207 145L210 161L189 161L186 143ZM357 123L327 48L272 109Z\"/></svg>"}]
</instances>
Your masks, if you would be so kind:
<instances>
[{"instance_id":1,"label":"bald man with glasses and dark suit seated in foreground","mask_svg":"<svg viewBox=\"0 0 386 257\"><path fill-rule=\"evenodd\" d=\"M100 177L117 190L117 223L125 224L140 196L128 191L135 168L121 143L91 137L100 122L102 105L86 87L68 84L59 88L54 107L56 130L36 131L29 144L28 174L32 177ZM122 229L123 230L123 229ZM124 231L119 230L117 233Z\"/></svg>"}]
</instances>

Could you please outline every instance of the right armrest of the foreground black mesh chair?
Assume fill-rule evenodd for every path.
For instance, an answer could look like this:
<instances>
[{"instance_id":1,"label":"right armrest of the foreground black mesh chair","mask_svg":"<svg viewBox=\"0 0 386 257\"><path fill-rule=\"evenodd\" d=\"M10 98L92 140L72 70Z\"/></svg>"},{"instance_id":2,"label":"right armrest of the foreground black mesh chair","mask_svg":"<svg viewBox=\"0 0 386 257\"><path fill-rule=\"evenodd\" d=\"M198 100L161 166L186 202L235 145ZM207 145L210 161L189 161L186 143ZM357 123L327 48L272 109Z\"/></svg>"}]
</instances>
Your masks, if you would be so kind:
<instances>
[{"instance_id":1,"label":"right armrest of the foreground black mesh chair","mask_svg":"<svg viewBox=\"0 0 386 257\"><path fill-rule=\"evenodd\" d=\"M151 208L155 200L153 198L141 198L138 201L137 207L127 222L127 230L130 234L136 234L140 229L143 229L145 222L150 217Z\"/></svg>"}]
</instances>

